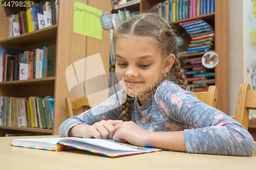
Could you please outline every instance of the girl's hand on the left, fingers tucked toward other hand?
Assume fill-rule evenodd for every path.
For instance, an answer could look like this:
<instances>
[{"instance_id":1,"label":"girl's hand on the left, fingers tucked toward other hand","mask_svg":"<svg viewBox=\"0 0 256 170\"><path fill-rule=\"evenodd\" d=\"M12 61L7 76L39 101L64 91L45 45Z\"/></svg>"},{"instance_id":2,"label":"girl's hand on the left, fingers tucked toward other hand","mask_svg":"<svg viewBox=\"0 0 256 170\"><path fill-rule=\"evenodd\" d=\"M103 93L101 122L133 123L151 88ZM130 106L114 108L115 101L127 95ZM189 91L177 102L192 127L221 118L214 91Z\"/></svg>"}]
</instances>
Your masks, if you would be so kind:
<instances>
[{"instance_id":1,"label":"girl's hand on the left, fingers tucked toward other hand","mask_svg":"<svg viewBox=\"0 0 256 170\"><path fill-rule=\"evenodd\" d=\"M83 138L112 139L116 132L114 126L121 123L122 120L101 120L92 126L84 127L80 134Z\"/></svg>"}]
</instances>

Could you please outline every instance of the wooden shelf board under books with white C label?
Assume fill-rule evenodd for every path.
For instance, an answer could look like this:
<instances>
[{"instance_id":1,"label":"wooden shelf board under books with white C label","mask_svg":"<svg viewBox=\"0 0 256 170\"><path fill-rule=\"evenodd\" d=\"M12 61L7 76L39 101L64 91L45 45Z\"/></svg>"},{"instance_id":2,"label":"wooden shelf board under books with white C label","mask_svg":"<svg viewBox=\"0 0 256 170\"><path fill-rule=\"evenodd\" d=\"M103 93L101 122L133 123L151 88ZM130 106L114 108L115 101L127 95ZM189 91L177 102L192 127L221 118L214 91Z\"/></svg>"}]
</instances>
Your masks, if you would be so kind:
<instances>
[{"instance_id":1,"label":"wooden shelf board under books with white C label","mask_svg":"<svg viewBox=\"0 0 256 170\"><path fill-rule=\"evenodd\" d=\"M15 81L8 81L8 82L1 82L1 85L28 85L28 84L48 84L54 83L55 77L47 77L41 79L30 79L30 80L15 80Z\"/></svg>"}]
</instances>

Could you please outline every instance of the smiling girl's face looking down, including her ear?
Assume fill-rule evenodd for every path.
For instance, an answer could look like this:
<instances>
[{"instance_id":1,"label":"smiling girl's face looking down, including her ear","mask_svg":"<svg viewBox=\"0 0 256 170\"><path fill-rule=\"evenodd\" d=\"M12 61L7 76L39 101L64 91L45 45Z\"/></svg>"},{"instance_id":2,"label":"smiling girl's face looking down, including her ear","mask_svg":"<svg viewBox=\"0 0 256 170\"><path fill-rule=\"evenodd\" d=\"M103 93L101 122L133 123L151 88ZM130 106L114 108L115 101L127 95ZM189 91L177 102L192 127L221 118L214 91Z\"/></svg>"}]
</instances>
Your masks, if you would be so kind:
<instances>
[{"instance_id":1,"label":"smiling girl's face looking down, including her ear","mask_svg":"<svg viewBox=\"0 0 256 170\"><path fill-rule=\"evenodd\" d=\"M116 72L123 75L125 91L143 105L157 89L175 56L163 60L160 49L145 38L121 37L116 41Z\"/></svg>"}]
</instances>

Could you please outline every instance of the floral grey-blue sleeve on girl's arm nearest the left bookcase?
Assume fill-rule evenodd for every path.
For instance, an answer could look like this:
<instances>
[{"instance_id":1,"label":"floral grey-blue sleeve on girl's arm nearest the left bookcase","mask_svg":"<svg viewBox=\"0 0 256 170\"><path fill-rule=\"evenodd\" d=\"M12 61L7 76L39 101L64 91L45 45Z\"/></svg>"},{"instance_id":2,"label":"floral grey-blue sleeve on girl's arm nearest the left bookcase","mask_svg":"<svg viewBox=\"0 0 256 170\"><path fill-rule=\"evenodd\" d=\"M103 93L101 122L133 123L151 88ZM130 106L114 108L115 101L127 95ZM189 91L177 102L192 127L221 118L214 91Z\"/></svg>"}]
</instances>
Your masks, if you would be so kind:
<instances>
[{"instance_id":1,"label":"floral grey-blue sleeve on girl's arm nearest the left bookcase","mask_svg":"<svg viewBox=\"0 0 256 170\"><path fill-rule=\"evenodd\" d=\"M119 91L98 106L68 118L59 127L59 136L68 137L69 130L78 124L93 125L100 120L121 119L121 96L122 91Z\"/></svg>"}]
</instances>

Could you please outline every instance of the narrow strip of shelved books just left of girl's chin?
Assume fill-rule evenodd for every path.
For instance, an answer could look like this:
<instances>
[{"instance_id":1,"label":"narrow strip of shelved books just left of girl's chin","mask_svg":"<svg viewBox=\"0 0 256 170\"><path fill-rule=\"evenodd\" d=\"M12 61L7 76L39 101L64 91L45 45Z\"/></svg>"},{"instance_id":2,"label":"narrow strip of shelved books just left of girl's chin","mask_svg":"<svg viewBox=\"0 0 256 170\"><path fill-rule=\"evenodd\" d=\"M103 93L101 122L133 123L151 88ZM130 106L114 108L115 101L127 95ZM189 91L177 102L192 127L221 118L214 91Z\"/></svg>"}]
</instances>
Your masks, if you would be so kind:
<instances>
[{"instance_id":1,"label":"narrow strip of shelved books just left of girl's chin","mask_svg":"<svg viewBox=\"0 0 256 170\"><path fill-rule=\"evenodd\" d=\"M120 83L118 83L118 79L115 76L114 72L115 72L115 68L111 67L110 68L110 83L109 83L109 96L115 94L116 92L122 90L122 86L120 85Z\"/></svg>"}]
</instances>

